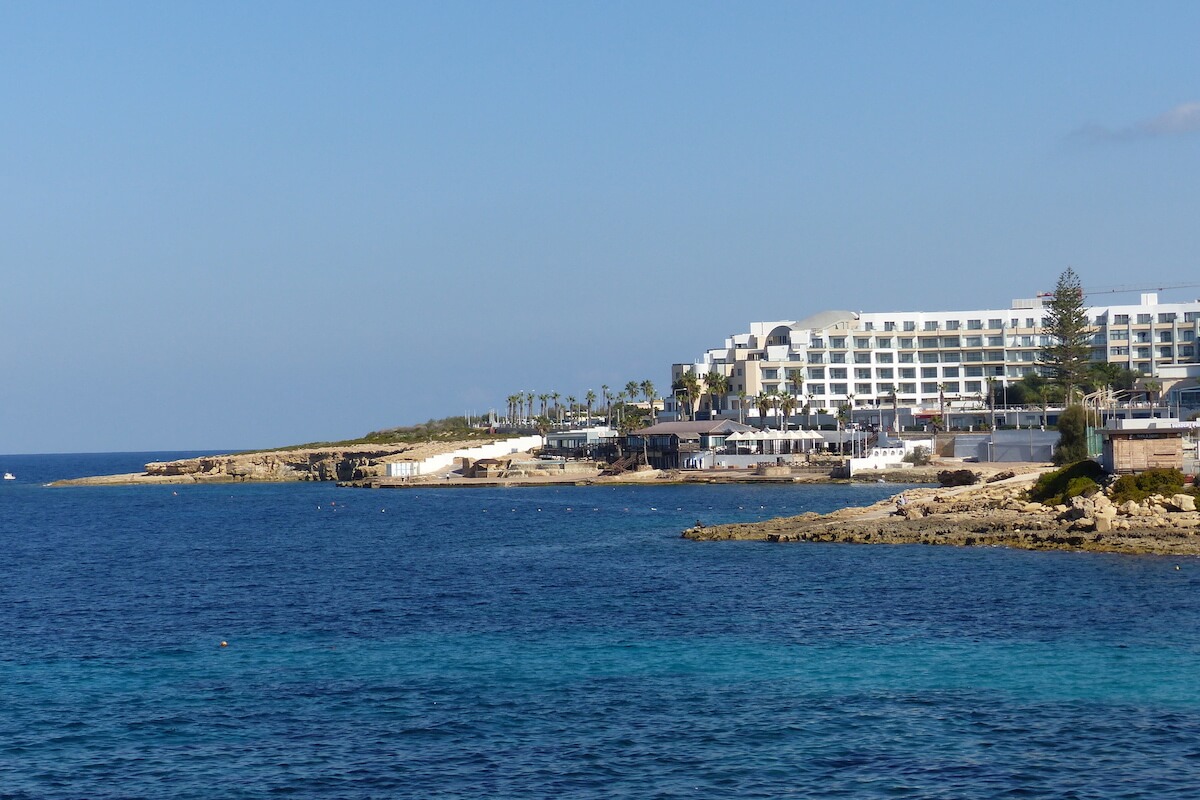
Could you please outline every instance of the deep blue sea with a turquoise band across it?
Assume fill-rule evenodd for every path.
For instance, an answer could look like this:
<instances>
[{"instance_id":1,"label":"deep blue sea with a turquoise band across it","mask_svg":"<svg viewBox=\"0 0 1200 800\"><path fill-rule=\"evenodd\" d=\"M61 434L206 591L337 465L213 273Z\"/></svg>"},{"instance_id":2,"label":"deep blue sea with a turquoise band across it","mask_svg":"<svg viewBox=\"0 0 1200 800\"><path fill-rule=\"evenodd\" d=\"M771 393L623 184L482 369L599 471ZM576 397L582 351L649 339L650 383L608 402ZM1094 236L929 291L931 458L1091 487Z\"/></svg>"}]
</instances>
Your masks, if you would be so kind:
<instances>
[{"instance_id":1,"label":"deep blue sea with a turquoise band across it","mask_svg":"<svg viewBox=\"0 0 1200 800\"><path fill-rule=\"evenodd\" d=\"M49 488L0 798L1196 798L1200 561L692 542L898 486Z\"/></svg>"}]
</instances>

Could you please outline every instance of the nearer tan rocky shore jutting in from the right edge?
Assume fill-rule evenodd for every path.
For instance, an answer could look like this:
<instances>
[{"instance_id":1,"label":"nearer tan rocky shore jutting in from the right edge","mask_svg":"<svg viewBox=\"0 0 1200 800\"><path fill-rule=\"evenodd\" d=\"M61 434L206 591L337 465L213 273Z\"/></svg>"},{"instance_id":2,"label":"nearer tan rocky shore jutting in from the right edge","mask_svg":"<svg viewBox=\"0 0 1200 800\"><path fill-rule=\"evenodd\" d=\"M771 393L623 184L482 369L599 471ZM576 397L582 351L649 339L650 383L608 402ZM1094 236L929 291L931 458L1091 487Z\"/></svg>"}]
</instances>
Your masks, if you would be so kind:
<instances>
[{"instance_id":1,"label":"nearer tan rocky shore jutting in from the right edge","mask_svg":"<svg viewBox=\"0 0 1200 800\"><path fill-rule=\"evenodd\" d=\"M1070 505L1030 503L1037 474L954 489L926 488L862 509L760 523L689 528L697 541L952 545L1108 553L1200 555L1200 512L1192 495L1153 495L1114 505L1108 497Z\"/></svg>"}]
</instances>

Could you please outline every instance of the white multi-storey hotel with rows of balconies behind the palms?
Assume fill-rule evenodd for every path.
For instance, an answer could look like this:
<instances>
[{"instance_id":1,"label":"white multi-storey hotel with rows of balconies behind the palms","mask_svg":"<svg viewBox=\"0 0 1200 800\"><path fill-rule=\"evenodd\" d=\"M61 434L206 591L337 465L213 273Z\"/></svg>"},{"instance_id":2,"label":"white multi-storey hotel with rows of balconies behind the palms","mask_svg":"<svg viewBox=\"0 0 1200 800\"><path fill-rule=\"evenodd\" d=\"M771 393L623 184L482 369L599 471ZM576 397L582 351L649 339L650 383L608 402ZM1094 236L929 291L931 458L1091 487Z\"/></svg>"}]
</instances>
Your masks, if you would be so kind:
<instances>
[{"instance_id":1,"label":"white multi-storey hotel with rows of balconies behind the palms","mask_svg":"<svg viewBox=\"0 0 1200 800\"><path fill-rule=\"evenodd\" d=\"M752 398L773 392L798 395L814 408L979 404L990 386L1007 387L1039 368L1039 351L1049 344L1048 300L984 311L826 311L754 323L695 363L673 365L671 377L725 374L730 393L718 410L737 410L739 396L751 407ZM1157 294L1142 294L1138 305L1093 306L1087 315L1094 361L1139 371L1164 387L1200 374L1200 300L1159 303Z\"/></svg>"}]
</instances>

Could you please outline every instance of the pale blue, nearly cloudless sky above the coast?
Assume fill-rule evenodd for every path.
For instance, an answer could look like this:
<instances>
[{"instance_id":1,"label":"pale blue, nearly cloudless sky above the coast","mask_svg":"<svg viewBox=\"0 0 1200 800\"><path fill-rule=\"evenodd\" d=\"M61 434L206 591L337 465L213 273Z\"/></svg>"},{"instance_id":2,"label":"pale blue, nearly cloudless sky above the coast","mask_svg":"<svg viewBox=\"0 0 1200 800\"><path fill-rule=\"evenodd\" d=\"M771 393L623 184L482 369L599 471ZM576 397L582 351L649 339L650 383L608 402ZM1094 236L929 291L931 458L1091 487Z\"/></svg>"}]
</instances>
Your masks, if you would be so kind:
<instances>
[{"instance_id":1,"label":"pale blue, nearly cloudless sky above the coast","mask_svg":"<svg viewBox=\"0 0 1200 800\"><path fill-rule=\"evenodd\" d=\"M1193 1L0 4L0 452L665 390L752 320L1006 307L1068 265L1200 282L1196 31Z\"/></svg>"}]
</instances>

